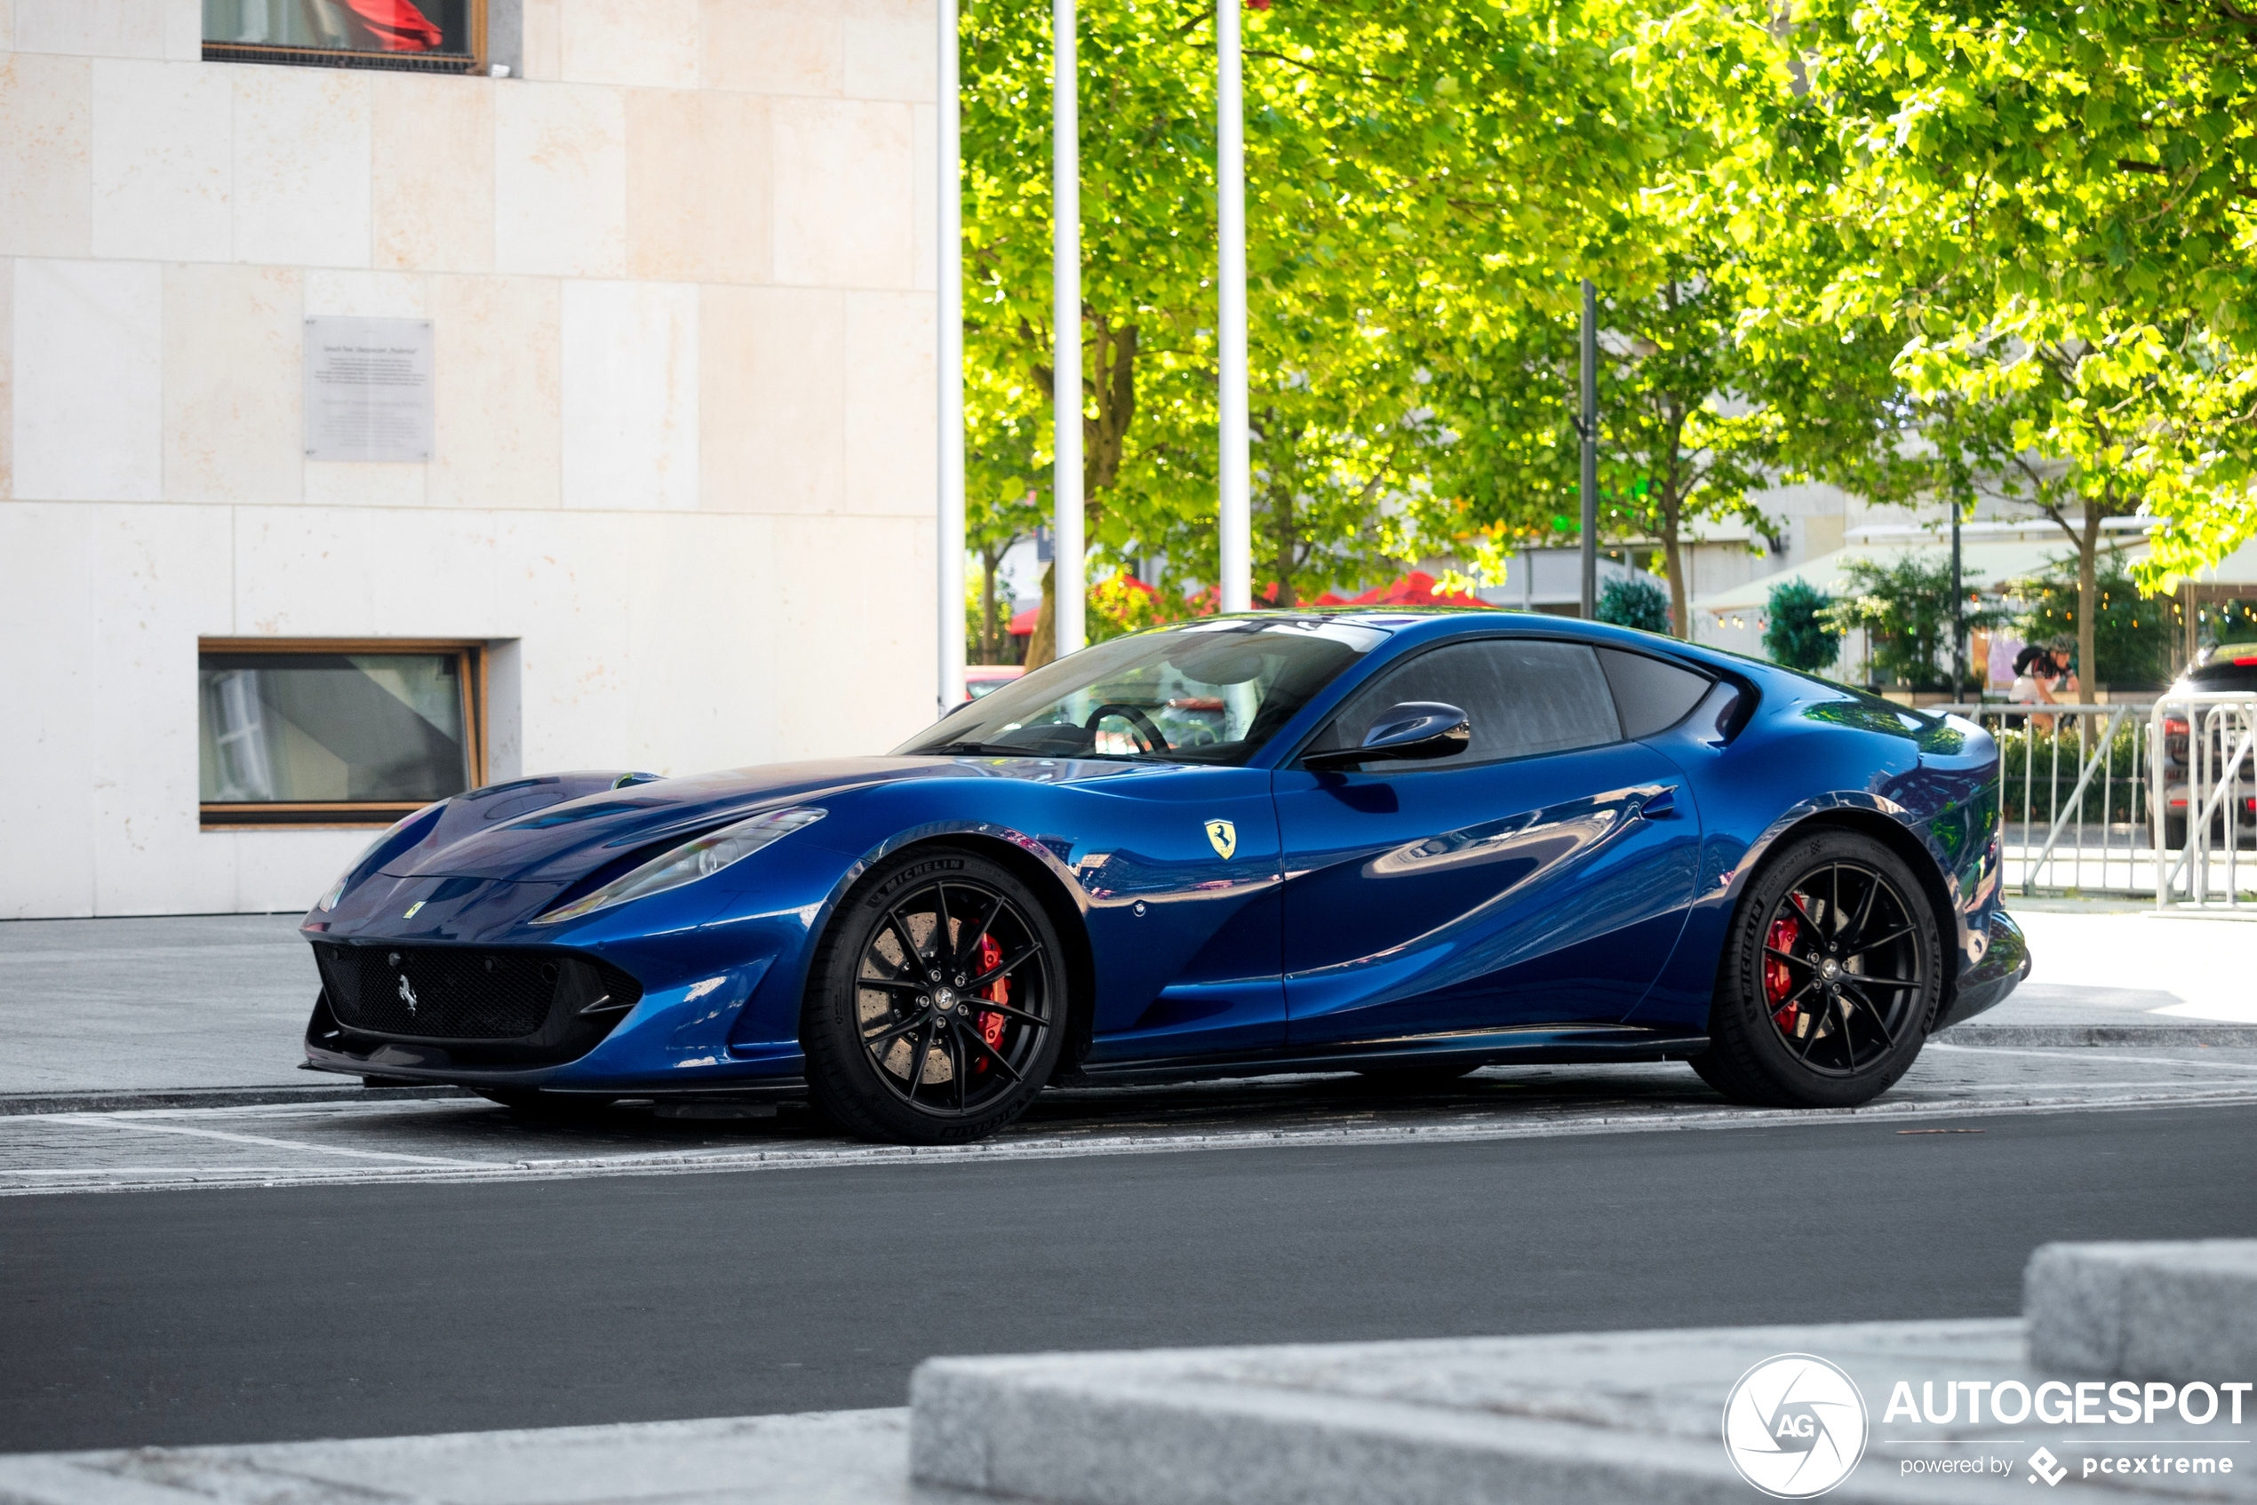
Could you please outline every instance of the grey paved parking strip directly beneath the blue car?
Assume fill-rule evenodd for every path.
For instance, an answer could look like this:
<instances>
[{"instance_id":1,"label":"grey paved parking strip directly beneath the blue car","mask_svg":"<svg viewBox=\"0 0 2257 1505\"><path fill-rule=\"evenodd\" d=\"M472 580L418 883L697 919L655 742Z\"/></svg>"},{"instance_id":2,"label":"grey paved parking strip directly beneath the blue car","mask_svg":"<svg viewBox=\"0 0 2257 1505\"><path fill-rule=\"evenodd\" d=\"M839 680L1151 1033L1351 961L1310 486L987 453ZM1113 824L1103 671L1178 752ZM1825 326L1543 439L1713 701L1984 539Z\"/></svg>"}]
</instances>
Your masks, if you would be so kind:
<instances>
[{"instance_id":1,"label":"grey paved parking strip directly beneath the blue car","mask_svg":"<svg viewBox=\"0 0 2257 1505\"><path fill-rule=\"evenodd\" d=\"M632 1108L530 1117L483 1099L52 1112L0 1117L0 1196L1510 1142L2246 1103L2257 1103L2257 1051L1932 1045L1905 1081L1855 1110L1738 1108L1675 1063L1490 1067L1426 1092L1359 1076L1056 1090L1009 1133L966 1146L860 1144L790 1108L720 1121Z\"/></svg>"}]
</instances>

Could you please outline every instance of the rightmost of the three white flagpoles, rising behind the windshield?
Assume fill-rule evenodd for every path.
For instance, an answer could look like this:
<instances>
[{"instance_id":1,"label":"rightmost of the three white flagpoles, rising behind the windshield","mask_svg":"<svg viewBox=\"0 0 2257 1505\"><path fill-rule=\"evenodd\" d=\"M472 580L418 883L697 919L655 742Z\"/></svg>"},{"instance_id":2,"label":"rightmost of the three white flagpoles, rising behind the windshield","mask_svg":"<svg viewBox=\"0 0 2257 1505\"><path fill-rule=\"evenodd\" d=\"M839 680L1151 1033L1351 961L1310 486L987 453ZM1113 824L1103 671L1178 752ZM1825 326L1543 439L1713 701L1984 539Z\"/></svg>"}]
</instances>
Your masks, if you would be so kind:
<instances>
[{"instance_id":1,"label":"rightmost of the three white flagpoles, rising behind the windshield","mask_svg":"<svg viewBox=\"0 0 2257 1505\"><path fill-rule=\"evenodd\" d=\"M1246 104L1239 83L1239 0L1214 7L1214 196L1221 357L1221 596L1223 611L1253 607L1253 460L1246 442Z\"/></svg>"}]
</instances>

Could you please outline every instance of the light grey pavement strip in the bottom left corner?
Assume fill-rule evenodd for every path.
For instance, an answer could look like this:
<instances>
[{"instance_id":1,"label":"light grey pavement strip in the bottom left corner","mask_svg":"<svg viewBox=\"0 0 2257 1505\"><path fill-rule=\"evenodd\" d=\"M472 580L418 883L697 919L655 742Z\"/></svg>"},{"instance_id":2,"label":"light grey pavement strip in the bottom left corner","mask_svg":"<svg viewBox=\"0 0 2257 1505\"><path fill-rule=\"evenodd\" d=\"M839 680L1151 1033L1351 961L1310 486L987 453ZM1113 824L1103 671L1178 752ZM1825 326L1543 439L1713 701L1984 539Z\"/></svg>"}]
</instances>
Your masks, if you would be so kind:
<instances>
[{"instance_id":1,"label":"light grey pavement strip in the bottom left corner","mask_svg":"<svg viewBox=\"0 0 2257 1505\"><path fill-rule=\"evenodd\" d=\"M907 1410L264 1446L18 1453L0 1505L950 1505Z\"/></svg>"}]
</instances>

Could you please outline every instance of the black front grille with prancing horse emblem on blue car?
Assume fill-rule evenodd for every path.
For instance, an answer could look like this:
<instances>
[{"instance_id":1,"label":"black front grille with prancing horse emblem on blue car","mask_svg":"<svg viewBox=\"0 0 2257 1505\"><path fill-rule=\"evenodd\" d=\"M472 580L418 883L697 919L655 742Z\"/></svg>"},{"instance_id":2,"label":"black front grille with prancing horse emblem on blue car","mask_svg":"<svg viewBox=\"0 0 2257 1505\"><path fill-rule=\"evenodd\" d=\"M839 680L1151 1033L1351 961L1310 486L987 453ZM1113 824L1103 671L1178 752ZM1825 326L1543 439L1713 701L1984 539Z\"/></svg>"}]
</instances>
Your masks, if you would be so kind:
<instances>
[{"instance_id":1,"label":"black front grille with prancing horse emblem on blue car","mask_svg":"<svg viewBox=\"0 0 2257 1505\"><path fill-rule=\"evenodd\" d=\"M316 943L339 1024L413 1040L524 1040L598 1006L616 1020L643 988L618 968L553 952Z\"/></svg>"}]
</instances>

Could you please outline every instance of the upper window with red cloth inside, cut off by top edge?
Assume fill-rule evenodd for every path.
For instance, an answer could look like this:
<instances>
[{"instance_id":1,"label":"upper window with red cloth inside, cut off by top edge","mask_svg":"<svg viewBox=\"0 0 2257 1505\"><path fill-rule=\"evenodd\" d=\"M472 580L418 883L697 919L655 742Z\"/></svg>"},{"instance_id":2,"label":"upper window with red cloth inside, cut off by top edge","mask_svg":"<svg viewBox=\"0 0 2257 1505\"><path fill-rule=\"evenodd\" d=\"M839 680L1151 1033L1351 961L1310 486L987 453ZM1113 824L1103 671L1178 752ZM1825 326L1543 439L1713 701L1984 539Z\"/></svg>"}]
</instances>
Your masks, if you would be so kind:
<instances>
[{"instance_id":1,"label":"upper window with red cloth inside, cut off by top edge","mask_svg":"<svg viewBox=\"0 0 2257 1505\"><path fill-rule=\"evenodd\" d=\"M485 72L485 5L203 0L203 61Z\"/></svg>"}]
</instances>

